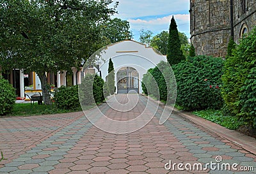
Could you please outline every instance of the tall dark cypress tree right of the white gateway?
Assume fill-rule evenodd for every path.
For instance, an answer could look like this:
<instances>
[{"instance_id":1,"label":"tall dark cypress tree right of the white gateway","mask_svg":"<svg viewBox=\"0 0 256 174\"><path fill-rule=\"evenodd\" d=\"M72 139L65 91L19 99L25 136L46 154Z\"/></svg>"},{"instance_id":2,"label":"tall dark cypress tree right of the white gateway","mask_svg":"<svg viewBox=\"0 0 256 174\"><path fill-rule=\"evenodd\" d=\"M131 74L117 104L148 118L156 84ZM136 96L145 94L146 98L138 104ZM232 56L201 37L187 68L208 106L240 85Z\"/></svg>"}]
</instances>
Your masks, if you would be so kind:
<instances>
[{"instance_id":1,"label":"tall dark cypress tree right of the white gateway","mask_svg":"<svg viewBox=\"0 0 256 174\"><path fill-rule=\"evenodd\" d=\"M182 60L185 60L185 56L183 55L182 50L180 50L179 31L175 19L172 16L169 28L167 61L172 66L173 64L178 64Z\"/></svg>"}]
</instances>

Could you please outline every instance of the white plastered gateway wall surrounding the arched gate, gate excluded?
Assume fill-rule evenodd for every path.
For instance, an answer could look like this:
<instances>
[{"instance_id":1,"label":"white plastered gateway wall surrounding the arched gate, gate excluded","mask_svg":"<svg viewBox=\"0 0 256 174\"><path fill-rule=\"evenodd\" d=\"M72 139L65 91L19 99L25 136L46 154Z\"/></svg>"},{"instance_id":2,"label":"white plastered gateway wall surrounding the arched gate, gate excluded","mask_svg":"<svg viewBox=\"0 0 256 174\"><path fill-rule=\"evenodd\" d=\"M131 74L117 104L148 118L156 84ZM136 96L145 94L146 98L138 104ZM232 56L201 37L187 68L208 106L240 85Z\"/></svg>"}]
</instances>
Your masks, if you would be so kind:
<instances>
[{"instance_id":1,"label":"white plastered gateway wall surrounding the arched gate, gate excluded","mask_svg":"<svg viewBox=\"0 0 256 174\"><path fill-rule=\"evenodd\" d=\"M122 91L118 91L117 87L117 83L120 81L120 77L118 78L118 76L116 75L118 74L118 71L120 69L136 69L136 71L138 72L138 83L127 82L127 84L130 85L130 87L133 85L135 88L137 85L139 93L142 93L141 80L143 78L143 75L147 73L148 69L155 68L160 61L166 62L166 56L161 55L152 47L147 47L143 43L132 40L120 41L108 45L106 47L106 50L104 50L104 52L101 54L101 58L99 61L99 70L101 71L102 78L104 80L106 80L106 76L108 75L108 64L110 58L114 64L115 69L116 93L120 93L120 91ZM125 88L128 86L123 85L122 87ZM125 93L124 90L121 93Z\"/></svg>"}]
</instances>

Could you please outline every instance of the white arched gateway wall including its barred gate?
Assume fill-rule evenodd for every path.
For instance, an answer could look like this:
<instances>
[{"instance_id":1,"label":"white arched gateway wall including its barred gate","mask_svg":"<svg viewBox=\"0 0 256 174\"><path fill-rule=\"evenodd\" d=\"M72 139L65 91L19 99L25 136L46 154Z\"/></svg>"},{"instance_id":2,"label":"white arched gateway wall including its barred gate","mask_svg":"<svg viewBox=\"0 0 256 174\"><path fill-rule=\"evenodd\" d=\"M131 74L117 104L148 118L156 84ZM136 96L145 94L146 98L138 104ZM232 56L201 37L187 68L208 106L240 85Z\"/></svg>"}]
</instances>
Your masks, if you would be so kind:
<instances>
[{"instance_id":1,"label":"white arched gateway wall including its barred gate","mask_svg":"<svg viewBox=\"0 0 256 174\"><path fill-rule=\"evenodd\" d=\"M99 71L106 80L111 58L115 69L116 94L142 93L141 80L150 68L156 67L166 56L137 41L125 40L108 45L100 54Z\"/></svg>"}]
</instances>

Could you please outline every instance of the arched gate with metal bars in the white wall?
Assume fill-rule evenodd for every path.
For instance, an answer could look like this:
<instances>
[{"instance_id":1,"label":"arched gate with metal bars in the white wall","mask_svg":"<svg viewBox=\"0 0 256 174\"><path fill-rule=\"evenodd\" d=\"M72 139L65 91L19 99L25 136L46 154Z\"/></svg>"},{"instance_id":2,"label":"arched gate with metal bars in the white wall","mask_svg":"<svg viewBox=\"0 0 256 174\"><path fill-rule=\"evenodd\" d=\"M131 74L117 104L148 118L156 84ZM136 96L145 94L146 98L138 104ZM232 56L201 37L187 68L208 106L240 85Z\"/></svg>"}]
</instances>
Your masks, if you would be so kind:
<instances>
[{"instance_id":1,"label":"arched gate with metal bars in the white wall","mask_svg":"<svg viewBox=\"0 0 256 174\"><path fill-rule=\"evenodd\" d=\"M123 67L116 73L117 94L139 93L139 73L132 67Z\"/></svg>"}]
</instances>

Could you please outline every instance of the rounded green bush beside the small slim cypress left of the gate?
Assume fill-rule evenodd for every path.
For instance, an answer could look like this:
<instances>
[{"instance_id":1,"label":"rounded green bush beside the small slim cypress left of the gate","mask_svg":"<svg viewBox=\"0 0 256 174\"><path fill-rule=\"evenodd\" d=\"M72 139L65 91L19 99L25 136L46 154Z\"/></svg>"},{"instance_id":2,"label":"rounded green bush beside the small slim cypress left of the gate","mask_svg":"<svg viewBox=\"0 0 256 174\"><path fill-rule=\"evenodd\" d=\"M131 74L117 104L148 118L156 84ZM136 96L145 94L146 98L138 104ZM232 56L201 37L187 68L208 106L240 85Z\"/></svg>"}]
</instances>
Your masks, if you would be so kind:
<instances>
[{"instance_id":1,"label":"rounded green bush beside the small slim cypress left of the gate","mask_svg":"<svg viewBox=\"0 0 256 174\"><path fill-rule=\"evenodd\" d=\"M98 75L85 75L79 85L81 106L95 105L104 101L104 80Z\"/></svg>"}]
</instances>

